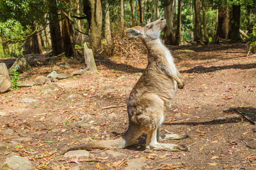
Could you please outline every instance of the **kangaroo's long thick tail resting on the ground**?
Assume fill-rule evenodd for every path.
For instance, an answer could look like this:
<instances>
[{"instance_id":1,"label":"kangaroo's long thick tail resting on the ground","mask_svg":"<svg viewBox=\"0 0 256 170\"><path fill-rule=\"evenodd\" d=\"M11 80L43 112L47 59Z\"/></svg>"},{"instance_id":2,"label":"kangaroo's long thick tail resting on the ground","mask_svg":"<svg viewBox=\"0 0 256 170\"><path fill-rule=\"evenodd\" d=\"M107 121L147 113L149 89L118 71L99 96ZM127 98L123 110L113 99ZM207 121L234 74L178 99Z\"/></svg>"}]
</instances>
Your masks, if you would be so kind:
<instances>
[{"instance_id":1,"label":"kangaroo's long thick tail resting on the ground","mask_svg":"<svg viewBox=\"0 0 256 170\"><path fill-rule=\"evenodd\" d=\"M129 128L124 133L124 135L115 140L109 141L96 141L92 143L86 143L74 148L69 148L70 150L90 150L90 149L104 149L104 148L126 148L132 145L134 141L140 137L142 131L136 125L129 124Z\"/></svg>"}]
</instances>

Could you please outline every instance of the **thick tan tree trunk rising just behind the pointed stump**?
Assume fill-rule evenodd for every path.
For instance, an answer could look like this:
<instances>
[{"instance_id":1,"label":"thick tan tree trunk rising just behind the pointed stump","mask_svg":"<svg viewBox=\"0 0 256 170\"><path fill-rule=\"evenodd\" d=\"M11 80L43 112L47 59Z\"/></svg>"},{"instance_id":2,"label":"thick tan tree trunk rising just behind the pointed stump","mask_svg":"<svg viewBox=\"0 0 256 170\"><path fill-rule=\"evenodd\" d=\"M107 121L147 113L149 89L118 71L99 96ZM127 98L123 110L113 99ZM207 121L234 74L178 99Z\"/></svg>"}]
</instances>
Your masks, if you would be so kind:
<instances>
[{"instance_id":1,"label":"thick tan tree trunk rising just behind the pointed stump","mask_svg":"<svg viewBox=\"0 0 256 170\"><path fill-rule=\"evenodd\" d=\"M90 9L92 11L91 20L91 42L94 51L101 46L101 29L102 29L102 8L100 0L89 0Z\"/></svg>"}]
</instances>

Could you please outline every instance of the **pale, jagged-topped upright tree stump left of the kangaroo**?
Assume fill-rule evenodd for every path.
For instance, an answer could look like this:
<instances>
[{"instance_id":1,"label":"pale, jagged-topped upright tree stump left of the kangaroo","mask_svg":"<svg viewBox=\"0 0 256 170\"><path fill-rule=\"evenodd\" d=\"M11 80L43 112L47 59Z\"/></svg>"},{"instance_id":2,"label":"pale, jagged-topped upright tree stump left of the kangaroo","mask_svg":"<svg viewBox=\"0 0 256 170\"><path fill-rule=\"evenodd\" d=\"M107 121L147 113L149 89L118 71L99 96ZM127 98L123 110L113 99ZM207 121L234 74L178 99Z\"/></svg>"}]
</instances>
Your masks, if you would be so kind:
<instances>
[{"instance_id":1,"label":"pale, jagged-topped upright tree stump left of the kangaroo","mask_svg":"<svg viewBox=\"0 0 256 170\"><path fill-rule=\"evenodd\" d=\"M97 67L93 57L92 49L88 48L86 43L84 43L84 61L86 64L86 70L97 72Z\"/></svg>"}]
</instances>

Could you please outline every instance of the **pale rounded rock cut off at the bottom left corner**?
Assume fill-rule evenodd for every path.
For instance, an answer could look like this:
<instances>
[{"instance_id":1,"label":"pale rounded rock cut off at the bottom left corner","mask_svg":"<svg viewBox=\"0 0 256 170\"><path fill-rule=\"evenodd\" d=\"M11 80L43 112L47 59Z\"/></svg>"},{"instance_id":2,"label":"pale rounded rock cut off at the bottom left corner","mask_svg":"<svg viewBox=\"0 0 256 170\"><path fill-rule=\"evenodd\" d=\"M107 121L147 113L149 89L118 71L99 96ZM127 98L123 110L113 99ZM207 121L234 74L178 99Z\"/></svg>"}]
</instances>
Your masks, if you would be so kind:
<instances>
[{"instance_id":1,"label":"pale rounded rock cut off at the bottom left corner","mask_svg":"<svg viewBox=\"0 0 256 170\"><path fill-rule=\"evenodd\" d=\"M33 169L31 162L24 157L19 157L14 155L12 157L7 158L0 170L30 170Z\"/></svg>"}]
</instances>

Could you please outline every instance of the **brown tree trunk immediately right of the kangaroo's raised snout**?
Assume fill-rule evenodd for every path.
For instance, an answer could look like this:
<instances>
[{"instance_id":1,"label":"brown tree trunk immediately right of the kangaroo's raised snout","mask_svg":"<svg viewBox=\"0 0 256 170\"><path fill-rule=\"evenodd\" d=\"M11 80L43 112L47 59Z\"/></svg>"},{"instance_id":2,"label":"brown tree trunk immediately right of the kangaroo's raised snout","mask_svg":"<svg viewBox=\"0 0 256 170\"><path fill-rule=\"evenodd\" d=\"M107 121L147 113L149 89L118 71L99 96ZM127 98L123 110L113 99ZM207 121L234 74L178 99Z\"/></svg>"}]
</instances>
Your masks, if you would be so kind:
<instances>
[{"instance_id":1,"label":"brown tree trunk immediately right of the kangaroo's raised snout","mask_svg":"<svg viewBox=\"0 0 256 170\"><path fill-rule=\"evenodd\" d=\"M166 27L164 27L164 43L166 45L174 45L174 31L172 22L172 4L168 0L164 1L164 18L166 19Z\"/></svg>"}]
</instances>

